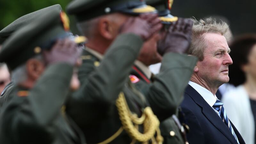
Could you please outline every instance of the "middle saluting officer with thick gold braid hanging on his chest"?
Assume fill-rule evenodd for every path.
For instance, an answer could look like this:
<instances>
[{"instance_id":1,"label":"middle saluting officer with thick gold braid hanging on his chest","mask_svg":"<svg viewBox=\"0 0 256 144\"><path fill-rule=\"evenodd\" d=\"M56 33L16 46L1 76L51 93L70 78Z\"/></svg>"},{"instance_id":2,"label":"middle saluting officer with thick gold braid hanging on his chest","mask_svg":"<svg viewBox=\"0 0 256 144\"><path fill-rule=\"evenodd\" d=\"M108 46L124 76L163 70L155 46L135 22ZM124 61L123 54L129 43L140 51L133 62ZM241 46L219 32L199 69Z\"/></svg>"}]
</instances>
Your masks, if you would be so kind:
<instances>
[{"instance_id":1,"label":"middle saluting officer with thick gold braid hanging on his chest","mask_svg":"<svg viewBox=\"0 0 256 144\"><path fill-rule=\"evenodd\" d=\"M143 41L162 27L155 8L140 0L75 0L67 12L89 41L78 72L81 87L67 104L88 144L161 143L157 117L127 82Z\"/></svg>"}]
</instances>

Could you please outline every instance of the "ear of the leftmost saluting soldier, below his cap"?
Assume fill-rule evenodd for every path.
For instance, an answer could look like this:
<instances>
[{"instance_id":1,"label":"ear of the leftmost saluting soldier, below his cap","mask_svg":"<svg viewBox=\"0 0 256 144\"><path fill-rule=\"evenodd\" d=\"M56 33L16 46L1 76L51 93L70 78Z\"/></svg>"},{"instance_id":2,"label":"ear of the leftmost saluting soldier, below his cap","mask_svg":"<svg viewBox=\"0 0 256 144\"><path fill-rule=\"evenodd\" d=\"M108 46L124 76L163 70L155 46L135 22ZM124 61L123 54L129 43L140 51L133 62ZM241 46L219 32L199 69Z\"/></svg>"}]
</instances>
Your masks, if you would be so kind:
<instances>
[{"instance_id":1,"label":"ear of the leftmost saluting soldier, below his cap","mask_svg":"<svg viewBox=\"0 0 256 144\"><path fill-rule=\"evenodd\" d=\"M28 78L36 80L44 71L44 63L36 59L29 59L26 62L26 69Z\"/></svg>"}]
</instances>

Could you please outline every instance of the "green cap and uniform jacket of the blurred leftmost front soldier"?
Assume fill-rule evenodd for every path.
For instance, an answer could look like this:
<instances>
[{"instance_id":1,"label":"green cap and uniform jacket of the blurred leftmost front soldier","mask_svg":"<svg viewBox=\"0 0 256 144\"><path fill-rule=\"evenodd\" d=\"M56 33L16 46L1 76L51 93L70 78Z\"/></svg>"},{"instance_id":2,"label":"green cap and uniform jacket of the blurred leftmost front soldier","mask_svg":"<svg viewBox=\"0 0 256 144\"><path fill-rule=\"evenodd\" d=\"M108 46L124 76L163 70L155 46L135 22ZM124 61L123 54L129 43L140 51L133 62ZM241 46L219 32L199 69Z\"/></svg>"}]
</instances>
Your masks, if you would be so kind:
<instances>
[{"instance_id":1,"label":"green cap and uniform jacket of the blurred leftmost front soldier","mask_svg":"<svg viewBox=\"0 0 256 144\"><path fill-rule=\"evenodd\" d=\"M49 10L4 42L0 61L15 70L50 49L56 39L69 36L67 25L65 13ZM16 85L13 98L1 109L0 143L84 144L84 135L63 106L72 74L73 66L58 62L46 68L32 89Z\"/></svg>"}]
</instances>

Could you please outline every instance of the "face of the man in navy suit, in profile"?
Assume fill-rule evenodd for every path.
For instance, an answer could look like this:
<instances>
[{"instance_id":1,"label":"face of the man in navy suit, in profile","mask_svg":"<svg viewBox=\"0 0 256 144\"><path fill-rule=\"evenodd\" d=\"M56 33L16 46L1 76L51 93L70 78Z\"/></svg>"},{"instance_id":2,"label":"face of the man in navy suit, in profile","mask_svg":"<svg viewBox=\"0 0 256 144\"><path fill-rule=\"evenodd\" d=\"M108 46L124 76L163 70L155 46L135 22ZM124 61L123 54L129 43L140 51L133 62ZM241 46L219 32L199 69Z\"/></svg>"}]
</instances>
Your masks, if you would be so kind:
<instances>
[{"instance_id":1,"label":"face of the man in navy suit, in profile","mask_svg":"<svg viewBox=\"0 0 256 144\"><path fill-rule=\"evenodd\" d=\"M229 81L228 65L233 63L228 54L230 49L226 38L220 34L207 33L204 39L204 59L197 63L197 75L208 85L220 86Z\"/></svg>"}]
</instances>

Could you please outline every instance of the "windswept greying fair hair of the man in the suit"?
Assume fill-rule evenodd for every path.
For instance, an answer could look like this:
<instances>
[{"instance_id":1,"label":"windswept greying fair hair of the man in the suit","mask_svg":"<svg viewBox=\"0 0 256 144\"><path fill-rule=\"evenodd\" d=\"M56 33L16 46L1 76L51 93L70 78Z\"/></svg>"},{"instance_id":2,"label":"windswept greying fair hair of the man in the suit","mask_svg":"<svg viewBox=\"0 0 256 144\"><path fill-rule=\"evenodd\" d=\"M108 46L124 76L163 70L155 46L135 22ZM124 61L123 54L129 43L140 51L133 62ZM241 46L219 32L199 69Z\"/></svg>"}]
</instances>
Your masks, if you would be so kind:
<instances>
[{"instance_id":1,"label":"windswept greying fair hair of the man in the suit","mask_svg":"<svg viewBox=\"0 0 256 144\"><path fill-rule=\"evenodd\" d=\"M196 20L193 17L191 20L193 20L194 26L188 54L197 56L200 61L204 59L204 48L207 46L204 40L206 33L219 33L226 38L227 42L231 38L228 24L223 21L217 23L211 17L200 20Z\"/></svg>"}]
</instances>

